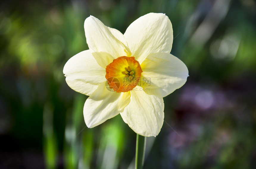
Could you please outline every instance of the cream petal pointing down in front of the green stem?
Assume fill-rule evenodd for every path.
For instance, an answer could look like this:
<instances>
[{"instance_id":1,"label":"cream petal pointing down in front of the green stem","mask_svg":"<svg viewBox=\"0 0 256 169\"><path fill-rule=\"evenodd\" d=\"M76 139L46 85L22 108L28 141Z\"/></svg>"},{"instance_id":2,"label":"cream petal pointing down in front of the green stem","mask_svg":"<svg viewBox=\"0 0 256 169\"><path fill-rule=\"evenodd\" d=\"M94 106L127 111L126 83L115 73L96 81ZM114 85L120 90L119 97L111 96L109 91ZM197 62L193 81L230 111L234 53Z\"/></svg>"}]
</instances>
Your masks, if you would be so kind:
<instances>
[{"instance_id":1,"label":"cream petal pointing down in front of the green stem","mask_svg":"<svg viewBox=\"0 0 256 169\"><path fill-rule=\"evenodd\" d=\"M136 86L131 91L130 103L120 114L135 133L150 137L157 136L163 126L163 109L163 98L147 95Z\"/></svg>"}]
</instances>

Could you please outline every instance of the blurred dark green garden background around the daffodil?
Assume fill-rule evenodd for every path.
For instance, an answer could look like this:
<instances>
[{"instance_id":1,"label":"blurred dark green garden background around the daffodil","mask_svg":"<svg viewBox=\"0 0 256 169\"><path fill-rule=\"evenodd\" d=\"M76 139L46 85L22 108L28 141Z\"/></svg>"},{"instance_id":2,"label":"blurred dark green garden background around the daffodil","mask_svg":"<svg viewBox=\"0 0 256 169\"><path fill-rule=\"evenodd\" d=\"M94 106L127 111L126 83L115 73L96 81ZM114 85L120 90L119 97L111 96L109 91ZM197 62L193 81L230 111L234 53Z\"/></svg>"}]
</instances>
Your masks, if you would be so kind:
<instances>
[{"instance_id":1,"label":"blurred dark green garden background around the daffodil","mask_svg":"<svg viewBox=\"0 0 256 169\"><path fill-rule=\"evenodd\" d=\"M164 98L160 134L147 138L144 168L255 168L254 0L0 2L0 168L134 168L136 134L118 115L88 129L87 96L68 87L66 61L87 50L93 15L125 32L166 13L171 54L189 70Z\"/></svg>"}]
</instances>

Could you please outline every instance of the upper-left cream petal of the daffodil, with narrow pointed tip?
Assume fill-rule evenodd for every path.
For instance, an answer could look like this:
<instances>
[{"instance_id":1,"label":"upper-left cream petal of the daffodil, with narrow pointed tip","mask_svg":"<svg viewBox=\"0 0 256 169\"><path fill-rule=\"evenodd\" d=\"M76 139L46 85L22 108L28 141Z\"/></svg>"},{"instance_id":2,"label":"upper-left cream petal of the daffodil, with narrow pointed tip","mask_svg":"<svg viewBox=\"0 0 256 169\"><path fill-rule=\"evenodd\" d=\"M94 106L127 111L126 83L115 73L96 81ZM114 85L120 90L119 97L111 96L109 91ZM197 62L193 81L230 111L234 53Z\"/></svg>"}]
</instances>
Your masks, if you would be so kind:
<instances>
[{"instance_id":1,"label":"upper-left cream petal of the daffodil, with narrow pointed tip","mask_svg":"<svg viewBox=\"0 0 256 169\"><path fill-rule=\"evenodd\" d=\"M94 16L86 18L84 27L88 47L103 68L106 68L113 59L131 55L120 31L105 26Z\"/></svg>"}]
</instances>

